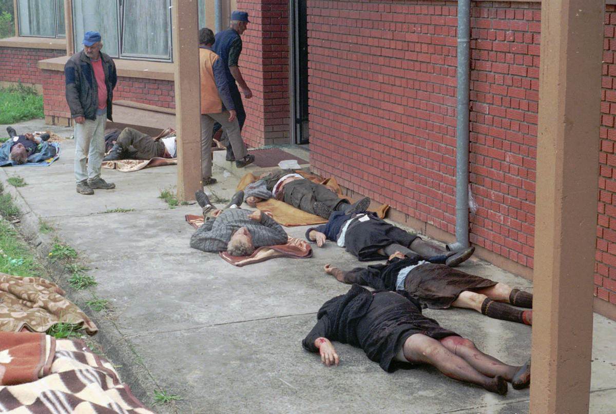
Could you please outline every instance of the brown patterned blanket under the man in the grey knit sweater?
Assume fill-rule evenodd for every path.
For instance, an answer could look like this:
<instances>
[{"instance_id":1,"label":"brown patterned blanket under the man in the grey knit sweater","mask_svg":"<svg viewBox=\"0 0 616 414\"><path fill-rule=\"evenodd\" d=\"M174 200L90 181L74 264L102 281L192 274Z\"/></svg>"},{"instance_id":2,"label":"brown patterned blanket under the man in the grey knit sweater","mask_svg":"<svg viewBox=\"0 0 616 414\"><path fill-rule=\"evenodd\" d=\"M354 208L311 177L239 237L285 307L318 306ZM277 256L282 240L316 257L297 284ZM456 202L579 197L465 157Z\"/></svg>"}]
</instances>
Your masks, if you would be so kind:
<instances>
[{"instance_id":1,"label":"brown patterned blanket under the man in the grey knit sweater","mask_svg":"<svg viewBox=\"0 0 616 414\"><path fill-rule=\"evenodd\" d=\"M203 225L203 216L186 214L185 218L195 229ZM219 256L233 266L242 267L275 258L307 259L312 256L312 248L306 240L289 237L284 245L259 247L250 256L231 256L226 251L221 251Z\"/></svg>"}]
</instances>

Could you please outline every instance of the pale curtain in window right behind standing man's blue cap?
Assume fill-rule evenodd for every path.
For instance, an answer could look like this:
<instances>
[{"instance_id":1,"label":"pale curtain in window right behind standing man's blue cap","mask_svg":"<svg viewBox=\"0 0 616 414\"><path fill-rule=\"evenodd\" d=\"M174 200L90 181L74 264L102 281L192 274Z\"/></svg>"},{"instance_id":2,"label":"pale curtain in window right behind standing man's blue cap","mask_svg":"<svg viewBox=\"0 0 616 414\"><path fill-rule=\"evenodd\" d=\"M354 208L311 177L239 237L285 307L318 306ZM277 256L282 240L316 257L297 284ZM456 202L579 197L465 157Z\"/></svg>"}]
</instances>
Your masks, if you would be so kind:
<instances>
[{"instance_id":1,"label":"pale curtain in window right behind standing man's blue cap","mask_svg":"<svg viewBox=\"0 0 616 414\"><path fill-rule=\"evenodd\" d=\"M75 50L83 49L83 34L98 31L103 42L103 52L120 57L118 45L118 0L73 0L73 25L75 25Z\"/></svg>"}]
</instances>

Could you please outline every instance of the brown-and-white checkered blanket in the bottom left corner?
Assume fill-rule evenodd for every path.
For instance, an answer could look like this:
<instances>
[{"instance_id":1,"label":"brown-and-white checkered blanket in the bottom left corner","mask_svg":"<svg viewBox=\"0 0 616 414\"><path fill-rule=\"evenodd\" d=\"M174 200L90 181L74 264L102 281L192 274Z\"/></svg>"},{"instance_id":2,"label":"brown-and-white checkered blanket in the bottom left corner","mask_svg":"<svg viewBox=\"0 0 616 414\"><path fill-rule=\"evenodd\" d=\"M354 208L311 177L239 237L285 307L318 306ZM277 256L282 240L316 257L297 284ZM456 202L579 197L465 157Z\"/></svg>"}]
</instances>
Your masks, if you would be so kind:
<instances>
[{"instance_id":1,"label":"brown-and-white checkered blanket in the bottom left corner","mask_svg":"<svg viewBox=\"0 0 616 414\"><path fill-rule=\"evenodd\" d=\"M81 339L55 339L49 375L27 384L0 386L0 412L153 413L121 383L113 365Z\"/></svg>"}]
</instances>

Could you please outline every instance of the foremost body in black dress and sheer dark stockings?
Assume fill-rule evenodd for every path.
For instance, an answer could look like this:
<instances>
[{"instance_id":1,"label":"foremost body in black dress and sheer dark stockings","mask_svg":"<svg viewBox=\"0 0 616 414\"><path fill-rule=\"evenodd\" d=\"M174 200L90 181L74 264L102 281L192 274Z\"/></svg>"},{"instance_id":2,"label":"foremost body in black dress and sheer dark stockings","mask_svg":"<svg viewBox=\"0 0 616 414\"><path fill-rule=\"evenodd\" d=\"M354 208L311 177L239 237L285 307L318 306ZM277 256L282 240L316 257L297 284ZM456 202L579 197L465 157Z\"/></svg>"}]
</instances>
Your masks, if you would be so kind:
<instances>
[{"instance_id":1,"label":"foremost body in black dress and sheer dark stockings","mask_svg":"<svg viewBox=\"0 0 616 414\"><path fill-rule=\"evenodd\" d=\"M302 341L319 352L325 365L338 365L331 341L360 347L383 370L396 363L427 363L453 379L506 394L530 384L530 360L521 367L507 365L479 351L469 339L440 327L421 314L419 302L405 291L368 291L353 285L348 293L325 302L318 322Z\"/></svg>"}]
</instances>

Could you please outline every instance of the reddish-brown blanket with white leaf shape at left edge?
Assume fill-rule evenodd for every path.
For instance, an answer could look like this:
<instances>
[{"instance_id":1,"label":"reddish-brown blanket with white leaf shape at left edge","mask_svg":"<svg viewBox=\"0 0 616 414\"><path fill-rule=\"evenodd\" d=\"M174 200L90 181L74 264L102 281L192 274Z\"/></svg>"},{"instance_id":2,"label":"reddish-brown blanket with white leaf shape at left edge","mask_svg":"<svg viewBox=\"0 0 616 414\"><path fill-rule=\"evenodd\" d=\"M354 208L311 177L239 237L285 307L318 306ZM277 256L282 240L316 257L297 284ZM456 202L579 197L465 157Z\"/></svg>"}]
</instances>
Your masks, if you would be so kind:
<instances>
[{"instance_id":1,"label":"reddish-brown blanket with white leaf shape at left edge","mask_svg":"<svg viewBox=\"0 0 616 414\"><path fill-rule=\"evenodd\" d=\"M48 375L54 352L53 336L0 332L0 385L30 383Z\"/></svg>"}]
</instances>

